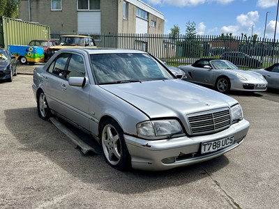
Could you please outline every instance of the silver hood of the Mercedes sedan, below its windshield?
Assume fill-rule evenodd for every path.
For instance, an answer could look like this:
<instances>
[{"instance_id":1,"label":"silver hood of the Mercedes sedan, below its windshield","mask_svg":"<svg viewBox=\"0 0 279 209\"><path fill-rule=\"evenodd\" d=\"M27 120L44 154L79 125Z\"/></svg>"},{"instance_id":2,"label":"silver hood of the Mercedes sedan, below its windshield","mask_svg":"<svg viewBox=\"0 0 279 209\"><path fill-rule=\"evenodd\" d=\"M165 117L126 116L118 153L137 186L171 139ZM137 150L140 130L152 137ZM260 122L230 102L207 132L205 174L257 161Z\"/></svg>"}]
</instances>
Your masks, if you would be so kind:
<instances>
[{"instance_id":1,"label":"silver hood of the Mercedes sedan, below its windshield","mask_svg":"<svg viewBox=\"0 0 279 209\"><path fill-rule=\"evenodd\" d=\"M180 79L101 87L137 107L150 118L184 117L193 112L236 104L236 100L227 95Z\"/></svg>"}]
</instances>

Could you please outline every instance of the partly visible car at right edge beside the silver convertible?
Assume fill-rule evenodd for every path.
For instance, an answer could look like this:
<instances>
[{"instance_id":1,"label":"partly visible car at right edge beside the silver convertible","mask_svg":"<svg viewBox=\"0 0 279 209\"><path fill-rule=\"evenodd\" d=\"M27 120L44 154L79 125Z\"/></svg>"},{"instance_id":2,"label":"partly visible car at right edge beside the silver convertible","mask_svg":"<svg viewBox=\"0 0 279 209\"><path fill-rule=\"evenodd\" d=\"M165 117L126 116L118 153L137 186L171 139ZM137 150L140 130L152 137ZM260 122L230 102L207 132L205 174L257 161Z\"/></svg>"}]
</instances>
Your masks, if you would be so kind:
<instances>
[{"instance_id":1,"label":"partly visible car at right edge beside the silver convertible","mask_svg":"<svg viewBox=\"0 0 279 209\"><path fill-rule=\"evenodd\" d=\"M271 65L269 68L252 70L253 72L258 72L268 82L268 88L277 88L279 89L279 63Z\"/></svg>"}]
</instances>

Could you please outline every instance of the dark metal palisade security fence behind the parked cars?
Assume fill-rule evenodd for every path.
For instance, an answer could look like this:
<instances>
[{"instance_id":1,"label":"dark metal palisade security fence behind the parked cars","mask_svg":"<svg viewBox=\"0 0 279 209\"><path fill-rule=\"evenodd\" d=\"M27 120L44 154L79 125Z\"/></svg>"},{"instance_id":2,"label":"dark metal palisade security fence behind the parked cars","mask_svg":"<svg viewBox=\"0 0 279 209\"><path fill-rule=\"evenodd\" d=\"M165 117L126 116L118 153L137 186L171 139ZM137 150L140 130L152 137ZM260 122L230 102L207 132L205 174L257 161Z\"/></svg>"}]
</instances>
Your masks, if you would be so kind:
<instances>
[{"instance_id":1,"label":"dark metal palisade security fence behind the parked cars","mask_svg":"<svg viewBox=\"0 0 279 209\"><path fill-rule=\"evenodd\" d=\"M169 65L188 65L200 58L227 59L242 69L266 68L279 62L279 42L244 36L170 36L165 34L51 32L53 40L62 35L84 35L97 47L138 49L149 52Z\"/></svg>"}]
</instances>

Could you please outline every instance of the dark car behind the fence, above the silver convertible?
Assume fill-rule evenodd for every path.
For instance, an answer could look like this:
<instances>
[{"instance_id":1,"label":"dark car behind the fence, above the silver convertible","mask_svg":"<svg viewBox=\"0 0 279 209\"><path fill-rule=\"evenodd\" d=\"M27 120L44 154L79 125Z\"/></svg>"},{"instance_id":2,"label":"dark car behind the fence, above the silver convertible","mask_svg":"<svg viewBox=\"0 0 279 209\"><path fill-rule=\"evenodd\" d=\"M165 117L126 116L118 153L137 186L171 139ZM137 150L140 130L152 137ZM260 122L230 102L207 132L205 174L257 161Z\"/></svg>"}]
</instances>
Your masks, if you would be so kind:
<instances>
[{"instance_id":1,"label":"dark car behind the fence, above the silver convertible","mask_svg":"<svg viewBox=\"0 0 279 209\"><path fill-rule=\"evenodd\" d=\"M248 54L243 52L224 52L220 59L226 59L234 65L248 68L260 68L262 66L262 61L252 58Z\"/></svg>"}]
</instances>

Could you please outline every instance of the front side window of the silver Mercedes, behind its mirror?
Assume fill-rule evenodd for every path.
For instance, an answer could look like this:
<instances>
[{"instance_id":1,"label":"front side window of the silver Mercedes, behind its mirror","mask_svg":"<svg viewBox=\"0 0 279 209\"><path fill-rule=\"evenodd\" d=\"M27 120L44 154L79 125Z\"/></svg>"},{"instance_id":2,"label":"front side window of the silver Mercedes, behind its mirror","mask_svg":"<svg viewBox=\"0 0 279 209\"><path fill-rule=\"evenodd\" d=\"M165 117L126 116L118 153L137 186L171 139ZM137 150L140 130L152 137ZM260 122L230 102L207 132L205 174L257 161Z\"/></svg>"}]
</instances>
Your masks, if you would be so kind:
<instances>
[{"instance_id":1,"label":"front side window of the silver Mercedes, behind its mirror","mask_svg":"<svg viewBox=\"0 0 279 209\"><path fill-rule=\"evenodd\" d=\"M73 54L70 58L66 79L69 77L85 77L85 65L82 56Z\"/></svg>"}]
</instances>

